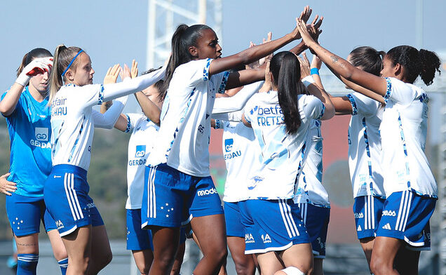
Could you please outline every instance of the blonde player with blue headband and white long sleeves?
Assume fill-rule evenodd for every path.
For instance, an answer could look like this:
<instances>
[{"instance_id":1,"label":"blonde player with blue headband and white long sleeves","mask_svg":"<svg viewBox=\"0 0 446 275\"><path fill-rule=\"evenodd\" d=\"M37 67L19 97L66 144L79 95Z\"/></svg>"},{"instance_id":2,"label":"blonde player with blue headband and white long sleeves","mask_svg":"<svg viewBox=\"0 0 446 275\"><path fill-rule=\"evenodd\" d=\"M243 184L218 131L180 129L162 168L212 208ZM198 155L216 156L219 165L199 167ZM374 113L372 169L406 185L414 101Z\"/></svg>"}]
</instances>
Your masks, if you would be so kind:
<instances>
[{"instance_id":1,"label":"blonde player with blue headband and white long sleeves","mask_svg":"<svg viewBox=\"0 0 446 275\"><path fill-rule=\"evenodd\" d=\"M112 74L118 72L115 66ZM81 48L56 48L49 100L53 169L44 199L67 248L68 274L97 274L112 259L104 223L88 196L86 174L93 127L112 128L126 98L115 102L106 114L92 107L147 88L163 76L161 70L121 83L93 85L94 73L90 57Z\"/></svg>"}]
</instances>

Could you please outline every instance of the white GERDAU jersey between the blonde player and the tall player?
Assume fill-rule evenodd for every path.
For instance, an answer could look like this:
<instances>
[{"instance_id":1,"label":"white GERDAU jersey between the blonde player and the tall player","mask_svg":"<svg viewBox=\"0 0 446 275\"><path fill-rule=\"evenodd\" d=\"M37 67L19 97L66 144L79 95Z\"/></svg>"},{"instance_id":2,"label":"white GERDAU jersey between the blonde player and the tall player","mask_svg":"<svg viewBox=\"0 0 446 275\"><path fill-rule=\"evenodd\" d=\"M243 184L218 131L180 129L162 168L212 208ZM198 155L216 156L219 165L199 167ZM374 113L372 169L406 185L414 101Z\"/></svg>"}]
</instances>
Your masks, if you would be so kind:
<instances>
[{"instance_id":1,"label":"white GERDAU jersey between the blonde player and the tall player","mask_svg":"<svg viewBox=\"0 0 446 275\"><path fill-rule=\"evenodd\" d=\"M156 145L158 126L143 114L126 114L128 140L127 209L140 209L144 192L144 171L147 156Z\"/></svg>"}]
</instances>

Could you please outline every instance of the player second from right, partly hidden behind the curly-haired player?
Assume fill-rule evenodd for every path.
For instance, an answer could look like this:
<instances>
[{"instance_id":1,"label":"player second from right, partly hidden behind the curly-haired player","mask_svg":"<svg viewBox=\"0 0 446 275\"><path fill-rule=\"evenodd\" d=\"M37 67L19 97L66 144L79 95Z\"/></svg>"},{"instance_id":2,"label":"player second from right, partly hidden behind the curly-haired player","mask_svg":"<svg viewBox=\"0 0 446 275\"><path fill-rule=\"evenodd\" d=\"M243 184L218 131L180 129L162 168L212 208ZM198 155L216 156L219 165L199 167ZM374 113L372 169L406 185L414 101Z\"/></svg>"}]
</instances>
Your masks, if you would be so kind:
<instances>
[{"instance_id":1,"label":"player second from right, partly hidden behind the curly-haired player","mask_svg":"<svg viewBox=\"0 0 446 275\"><path fill-rule=\"evenodd\" d=\"M347 61L358 69L379 76L385 54L364 46L351 51ZM315 55L313 60L319 58ZM320 67L320 62L318 65ZM349 88L351 83L342 77L340 79L345 81L346 88ZM356 233L370 267L374 234L378 229L385 201L379 136L384 99L372 100L358 92L331 99L337 114L352 115L349 125L349 166L355 199L353 213Z\"/></svg>"}]
</instances>

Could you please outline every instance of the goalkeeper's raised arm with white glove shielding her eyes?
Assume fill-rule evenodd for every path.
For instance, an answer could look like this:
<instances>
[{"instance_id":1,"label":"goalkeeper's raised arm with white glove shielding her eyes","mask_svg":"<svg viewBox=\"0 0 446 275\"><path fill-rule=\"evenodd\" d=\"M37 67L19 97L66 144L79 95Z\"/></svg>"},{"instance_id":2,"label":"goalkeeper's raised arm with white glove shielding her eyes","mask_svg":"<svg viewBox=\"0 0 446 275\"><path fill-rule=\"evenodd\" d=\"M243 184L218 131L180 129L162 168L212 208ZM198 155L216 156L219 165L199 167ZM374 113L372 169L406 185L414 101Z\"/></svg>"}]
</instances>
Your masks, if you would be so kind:
<instances>
[{"instance_id":1,"label":"goalkeeper's raised arm with white glove shielding her eyes","mask_svg":"<svg viewBox=\"0 0 446 275\"><path fill-rule=\"evenodd\" d=\"M53 58L36 58L22 70L15 83L0 101L0 112L4 116L10 116L17 106L23 89L28 85L29 79L37 74L48 74L53 67Z\"/></svg>"}]
</instances>

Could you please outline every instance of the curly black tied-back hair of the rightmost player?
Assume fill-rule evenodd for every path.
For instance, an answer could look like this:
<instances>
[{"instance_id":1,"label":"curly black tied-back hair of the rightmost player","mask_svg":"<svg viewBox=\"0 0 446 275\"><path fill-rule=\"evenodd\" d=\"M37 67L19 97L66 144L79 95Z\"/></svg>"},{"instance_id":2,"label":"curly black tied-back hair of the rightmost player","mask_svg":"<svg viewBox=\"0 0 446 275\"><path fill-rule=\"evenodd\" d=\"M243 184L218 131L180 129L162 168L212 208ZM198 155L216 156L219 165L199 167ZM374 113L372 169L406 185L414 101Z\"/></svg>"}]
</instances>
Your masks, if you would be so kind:
<instances>
[{"instance_id":1,"label":"curly black tied-back hair of the rightmost player","mask_svg":"<svg viewBox=\"0 0 446 275\"><path fill-rule=\"evenodd\" d=\"M431 51L420 50L412 46L396 46L388 51L386 57L393 66L400 64L405 68L404 77L408 83L414 83L418 76L429 86L433 83L435 72L440 73L440 58Z\"/></svg>"}]
</instances>

